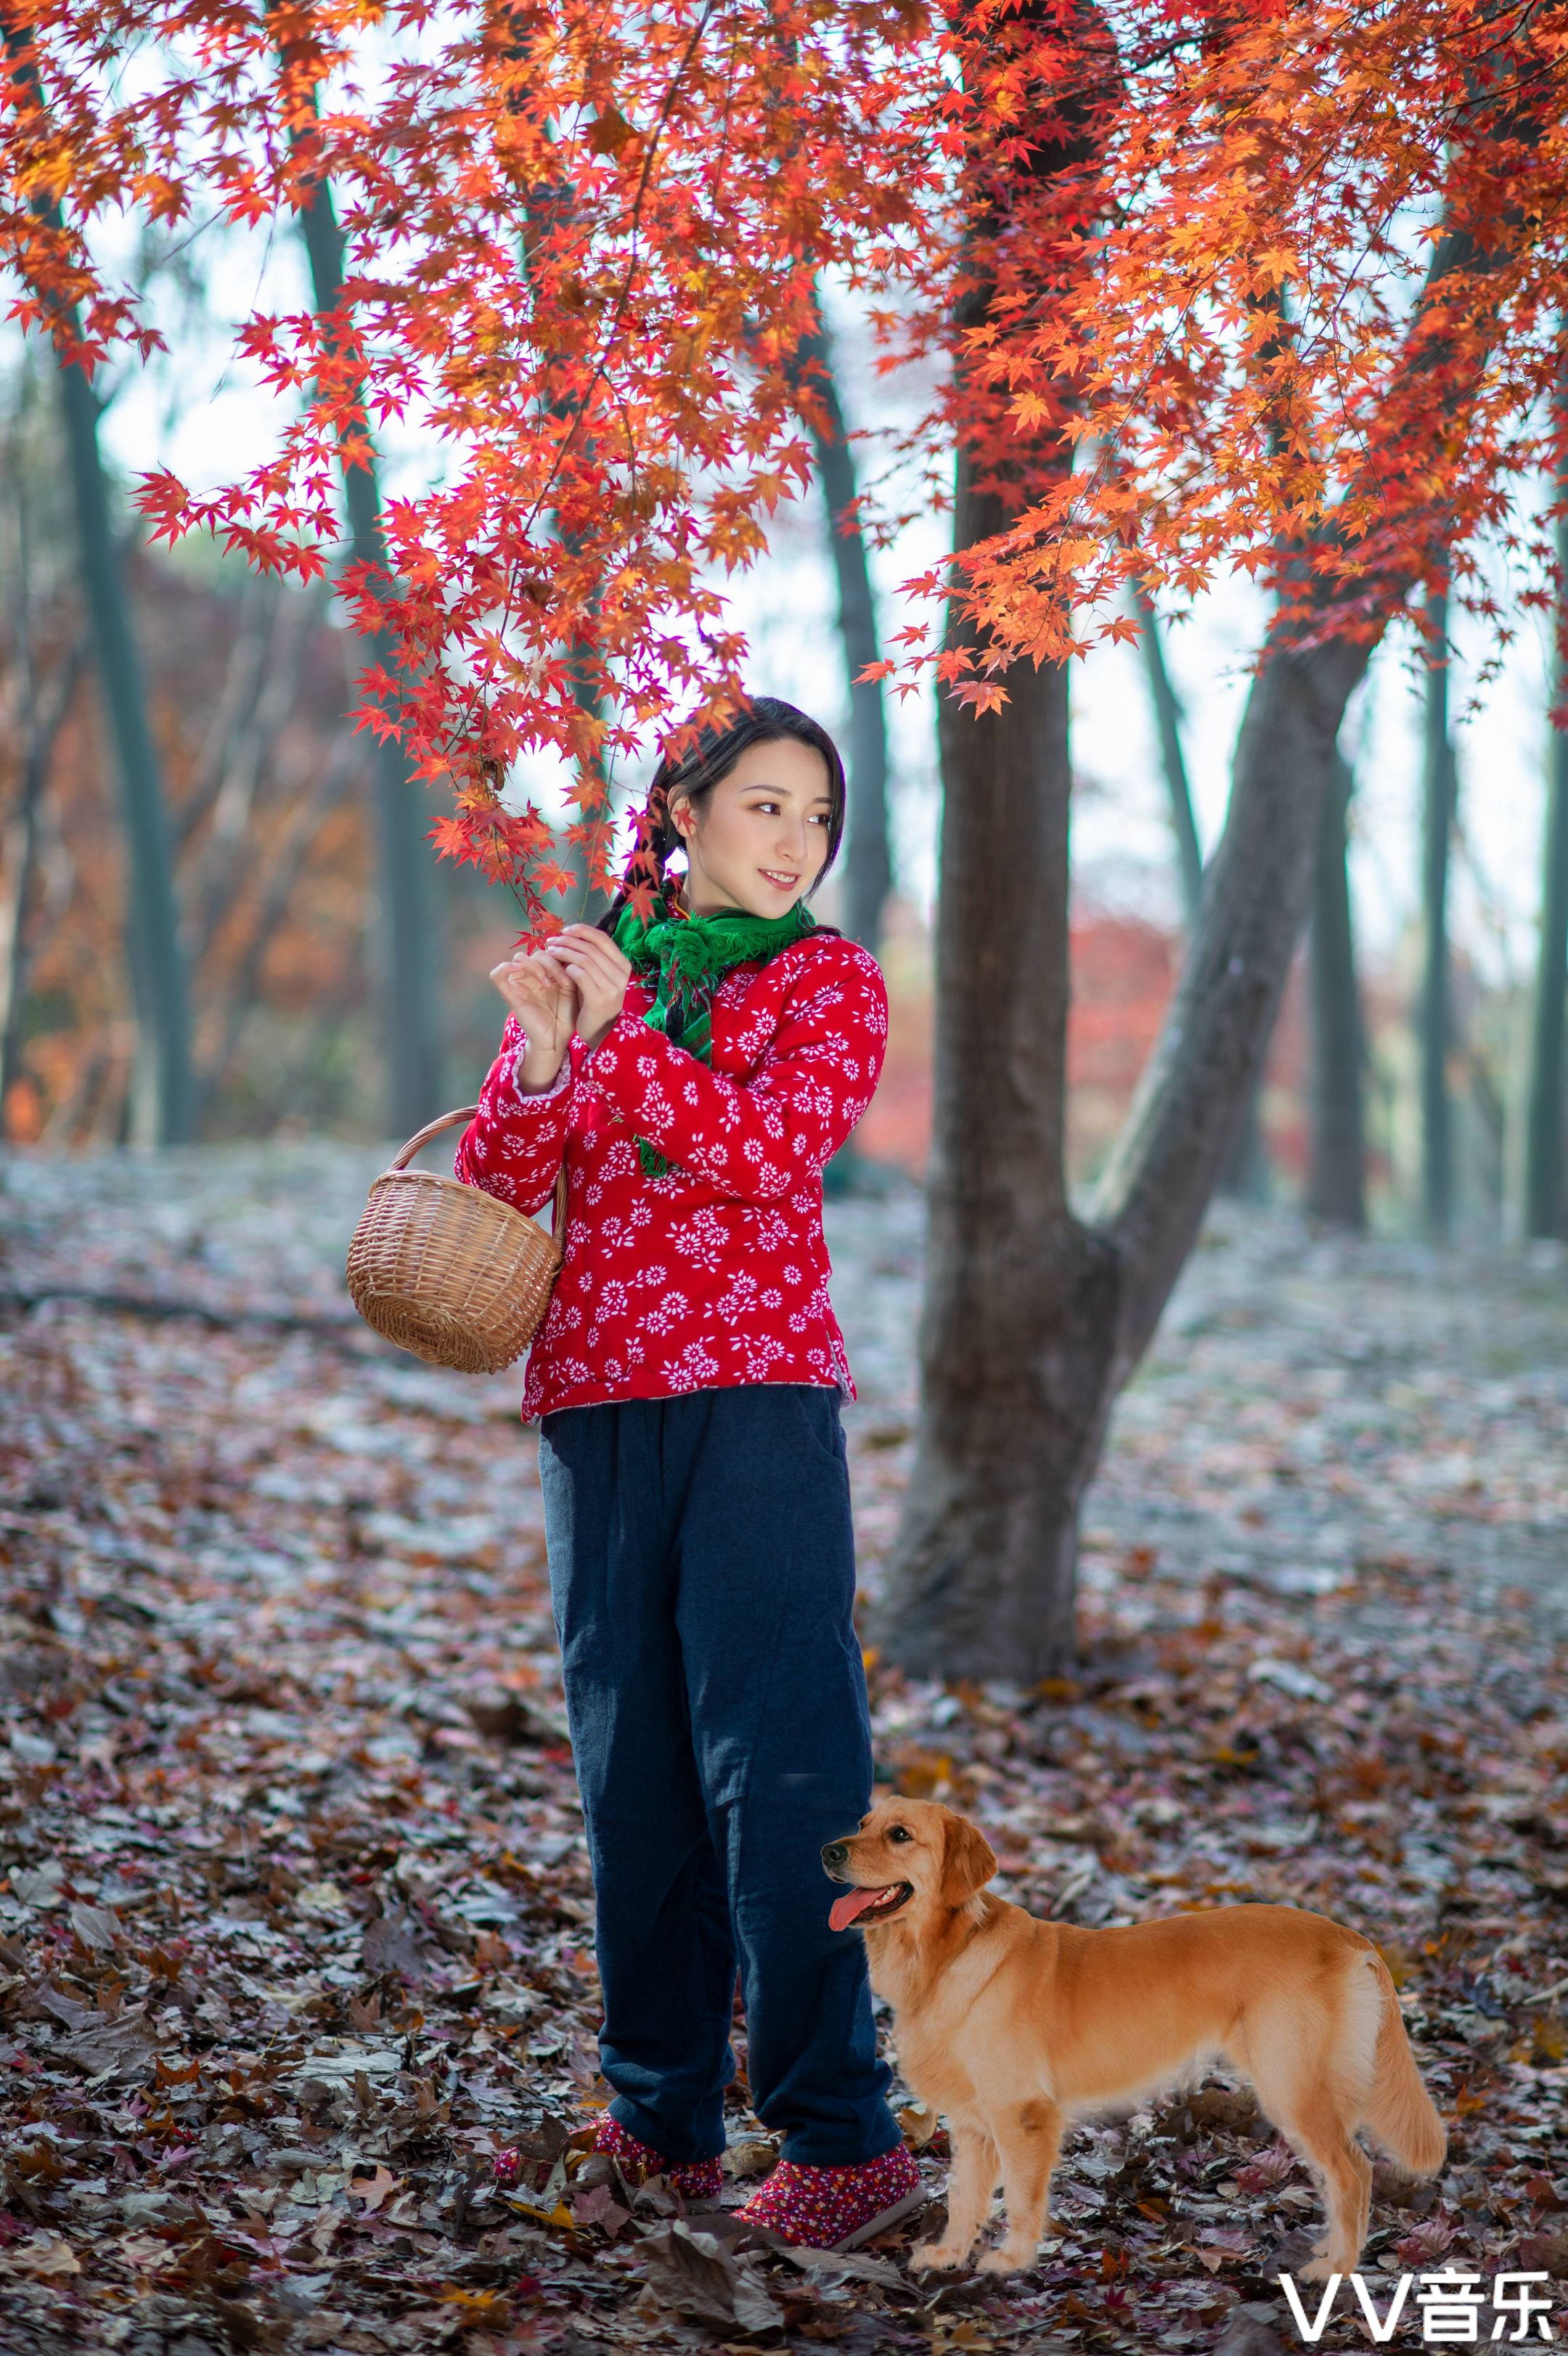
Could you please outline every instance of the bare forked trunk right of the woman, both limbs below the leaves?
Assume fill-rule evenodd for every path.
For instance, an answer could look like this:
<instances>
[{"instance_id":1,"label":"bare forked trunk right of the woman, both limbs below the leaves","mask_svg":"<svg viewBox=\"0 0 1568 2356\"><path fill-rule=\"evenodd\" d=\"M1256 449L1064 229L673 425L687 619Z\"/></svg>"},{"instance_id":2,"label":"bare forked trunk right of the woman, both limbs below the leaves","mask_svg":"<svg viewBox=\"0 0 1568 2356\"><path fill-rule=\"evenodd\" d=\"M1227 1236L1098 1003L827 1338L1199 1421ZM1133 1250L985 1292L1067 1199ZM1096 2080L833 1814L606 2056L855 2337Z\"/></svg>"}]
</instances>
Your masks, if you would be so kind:
<instances>
[{"instance_id":1,"label":"bare forked trunk right of the woman, both limbs below the leaves","mask_svg":"<svg viewBox=\"0 0 1568 2356\"><path fill-rule=\"evenodd\" d=\"M958 518L984 521L963 488ZM1335 638L1264 653L1187 964L1088 1225L1062 1187L1067 688L1022 664L1003 712L944 709L923 1399L873 1614L913 1675L1071 1663L1078 1503L1257 1086L1366 660Z\"/></svg>"}]
</instances>

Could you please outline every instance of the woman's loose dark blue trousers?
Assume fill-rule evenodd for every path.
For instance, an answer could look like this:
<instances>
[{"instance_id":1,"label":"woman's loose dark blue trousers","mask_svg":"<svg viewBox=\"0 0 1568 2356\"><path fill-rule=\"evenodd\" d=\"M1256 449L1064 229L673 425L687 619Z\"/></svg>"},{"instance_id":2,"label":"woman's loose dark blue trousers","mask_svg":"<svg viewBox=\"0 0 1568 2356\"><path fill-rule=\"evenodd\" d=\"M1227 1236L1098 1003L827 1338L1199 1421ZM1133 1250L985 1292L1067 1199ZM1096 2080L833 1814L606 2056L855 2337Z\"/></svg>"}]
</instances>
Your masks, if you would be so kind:
<instances>
[{"instance_id":1,"label":"woman's loose dark blue trousers","mask_svg":"<svg viewBox=\"0 0 1568 2356\"><path fill-rule=\"evenodd\" d=\"M871 1805L838 1392L563 1407L539 1472L614 2118L671 2160L723 2151L739 1967L784 2156L892 2151L866 1955L829 1930L819 1857Z\"/></svg>"}]
</instances>

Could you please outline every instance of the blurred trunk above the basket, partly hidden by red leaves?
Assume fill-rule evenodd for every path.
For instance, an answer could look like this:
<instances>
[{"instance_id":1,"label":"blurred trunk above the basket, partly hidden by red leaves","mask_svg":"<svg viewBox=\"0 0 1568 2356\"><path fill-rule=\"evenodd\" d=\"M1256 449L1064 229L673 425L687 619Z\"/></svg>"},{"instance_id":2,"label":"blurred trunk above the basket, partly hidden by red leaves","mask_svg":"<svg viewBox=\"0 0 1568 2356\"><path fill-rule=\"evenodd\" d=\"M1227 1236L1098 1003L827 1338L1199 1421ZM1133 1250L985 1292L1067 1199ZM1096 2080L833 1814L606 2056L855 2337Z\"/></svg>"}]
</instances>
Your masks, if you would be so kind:
<instances>
[{"instance_id":1,"label":"blurred trunk above the basket, partly hidden by red leaves","mask_svg":"<svg viewBox=\"0 0 1568 2356\"><path fill-rule=\"evenodd\" d=\"M318 313L337 309L344 287L344 233L332 186L318 179L299 214ZM370 431L370 429L365 429ZM381 495L374 464L344 464L344 504L353 561L384 565ZM396 676L388 631L374 631L370 657ZM433 853L426 843L424 787L398 737L370 756L377 801L379 985L386 1041L386 1121L407 1136L440 1110L440 973Z\"/></svg>"}]
</instances>

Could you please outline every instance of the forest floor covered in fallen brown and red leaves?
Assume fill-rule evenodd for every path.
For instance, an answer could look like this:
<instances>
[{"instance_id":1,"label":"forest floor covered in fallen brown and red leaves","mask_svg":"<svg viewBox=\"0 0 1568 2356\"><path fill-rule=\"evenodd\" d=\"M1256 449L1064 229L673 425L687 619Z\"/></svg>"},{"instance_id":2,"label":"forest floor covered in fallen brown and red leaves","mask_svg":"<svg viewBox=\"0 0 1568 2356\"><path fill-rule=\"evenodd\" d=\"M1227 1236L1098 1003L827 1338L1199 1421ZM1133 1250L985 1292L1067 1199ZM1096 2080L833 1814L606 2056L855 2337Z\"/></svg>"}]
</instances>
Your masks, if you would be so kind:
<instances>
[{"instance_id":1,"label":"forest floor covered in fallen brown and red leaves","mask_svg":"<svg viewBox=\"0 0 1568 2356\"><path fill-rule=\"evenodd\" d=\"M7 2356L1300 2347L1276 2278L1316 2193L1222 2073L1074 2127L1067 2233L1010 2283L911 2276L916 2224L855 2262L735 2248L584 2163L534 1435L516 1371L421 1369L348 1315L374 1166L0 1164ZM829 1235L873 1588L921 1197L833 1202ZM1568 1258L1227 1206L1088 1503L1078 1673L871 1668L881 1774L970 1809L1034 1911L1267 1899L1380 1944L1450 2130L1434 2182L1377 2165L1394 2347L1568 2332L1566 1437ZM944 2139L904 2123L939 2201ZM730 2208L770 2156L742 2078ZM1368 2340L1347 2285L1323 2344Z\"/></svg>"}]
</instances>

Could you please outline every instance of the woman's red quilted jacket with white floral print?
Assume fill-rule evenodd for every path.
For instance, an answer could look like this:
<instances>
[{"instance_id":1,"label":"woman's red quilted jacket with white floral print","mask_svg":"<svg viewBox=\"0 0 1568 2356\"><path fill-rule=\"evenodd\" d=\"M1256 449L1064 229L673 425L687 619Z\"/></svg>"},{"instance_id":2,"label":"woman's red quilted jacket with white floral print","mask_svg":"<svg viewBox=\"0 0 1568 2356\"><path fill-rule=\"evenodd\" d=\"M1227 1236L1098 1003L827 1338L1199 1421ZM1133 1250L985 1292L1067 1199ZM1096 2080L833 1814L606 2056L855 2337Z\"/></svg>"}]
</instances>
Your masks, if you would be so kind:
<instances>
[{"instance_id":1,"label":"woman's red quilted jacket with white floral print","mask_svg":"<svg viewBox=\"0 0 1568 2356\"><path fill-rule=\"evenodd\" d=\"M826 926L713 994L713 1065L647 1027L652 987L553 1088L518 1093L511 1015L457 1176L539 1211L567 1166L567 1242L523 1381L523 1421L732 1383L855 1383L829 1303L822 1164L888 1051L876 959ZM671 1162L647 1178L647 1138Z\"/></svg>"}]
</instances>

